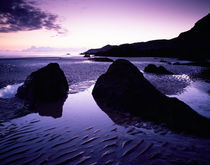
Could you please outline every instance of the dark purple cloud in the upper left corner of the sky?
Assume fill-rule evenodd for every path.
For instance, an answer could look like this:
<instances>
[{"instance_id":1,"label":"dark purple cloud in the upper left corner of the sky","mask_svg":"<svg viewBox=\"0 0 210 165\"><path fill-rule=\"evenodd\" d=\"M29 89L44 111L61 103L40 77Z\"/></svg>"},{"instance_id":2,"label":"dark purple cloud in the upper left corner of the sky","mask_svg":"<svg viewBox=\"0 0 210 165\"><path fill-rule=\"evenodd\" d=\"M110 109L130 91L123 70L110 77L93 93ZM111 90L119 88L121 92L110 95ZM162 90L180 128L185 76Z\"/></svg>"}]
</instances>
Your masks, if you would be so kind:
<instances>
[{"instance_id":1,"label":"dark purple cloud in the upper left corner of the sky","mask_svg":"<svg viewBox=\"0 0 210 165\"><path fill-rule=\"evenodd\" d=\"M31 0L0 0L0 33L62 28L56 23L58 16L42 11Z\"/></svg>"}]
</instances>

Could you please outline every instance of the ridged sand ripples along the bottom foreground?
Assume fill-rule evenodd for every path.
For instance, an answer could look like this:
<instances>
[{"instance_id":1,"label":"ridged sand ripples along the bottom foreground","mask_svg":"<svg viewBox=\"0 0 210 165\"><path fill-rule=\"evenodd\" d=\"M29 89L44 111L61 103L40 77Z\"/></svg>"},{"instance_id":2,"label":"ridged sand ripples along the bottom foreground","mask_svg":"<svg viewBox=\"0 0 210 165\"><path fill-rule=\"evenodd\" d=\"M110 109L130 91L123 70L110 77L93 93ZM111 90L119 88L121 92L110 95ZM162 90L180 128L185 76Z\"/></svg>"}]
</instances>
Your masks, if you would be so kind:
<instances>
[{"instance_id":1,"label":"ridged sand ripples along the bottom foreground","mask_svg":"<svg viewBox=\"0 0 210 165\"><path fill-rule=\"evenodd\" d=\"M39 122L33 120L26 125L7 123L1 126L1 129L8 130L0 139L1 165L169 163L173 160L170 153L180 147L164 139L161 141L160 137L158 140L150 139L143 131L132 135L137 132L135 127L112 125L102 130L89 126L77 133L70 126L62 128L63 123L42 128ZM192 150L182 146L182 150L187 149ZM182 163L182 160L173 161Z\"/></svg>"}]
</instances>

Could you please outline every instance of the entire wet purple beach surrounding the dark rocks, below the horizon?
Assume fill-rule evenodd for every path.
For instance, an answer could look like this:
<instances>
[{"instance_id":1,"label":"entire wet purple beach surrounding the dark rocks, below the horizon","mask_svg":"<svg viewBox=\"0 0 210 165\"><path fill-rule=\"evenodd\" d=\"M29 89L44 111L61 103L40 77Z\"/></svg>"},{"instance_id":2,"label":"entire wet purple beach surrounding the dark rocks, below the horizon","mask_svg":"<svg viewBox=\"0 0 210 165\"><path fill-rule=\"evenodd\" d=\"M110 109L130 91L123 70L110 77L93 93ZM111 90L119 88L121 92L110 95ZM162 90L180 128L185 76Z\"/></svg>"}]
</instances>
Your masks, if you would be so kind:
<instances>
[{"instance_id":1,"label":"entire wet purple beach surrounding the dark rocks, below the horizon","mask_svg":"<svg viewBox=\"0 0 210 165\"><path fill-rule=\"evenodd\" d=\"M201 76L207 68L173 65L175 62L189 62L175 58L125 59L136 65L163 94L179 98L199 114L210 118L209 79ZM23 106L23 102L14 97L18 85L31 72L48 63L60 65L70 88L59 112L61 117L43 116L30 111L17 113ZM151 63L162 65L173 74L144 73L145 66ZM209 164L209 139L176 133L164 125L142 121L129 114L110 116L98 107L92 97L92 89L97 78L107 71L110 64L83 57L1 59L0 162Z\"/></svg>"}]
</instances>

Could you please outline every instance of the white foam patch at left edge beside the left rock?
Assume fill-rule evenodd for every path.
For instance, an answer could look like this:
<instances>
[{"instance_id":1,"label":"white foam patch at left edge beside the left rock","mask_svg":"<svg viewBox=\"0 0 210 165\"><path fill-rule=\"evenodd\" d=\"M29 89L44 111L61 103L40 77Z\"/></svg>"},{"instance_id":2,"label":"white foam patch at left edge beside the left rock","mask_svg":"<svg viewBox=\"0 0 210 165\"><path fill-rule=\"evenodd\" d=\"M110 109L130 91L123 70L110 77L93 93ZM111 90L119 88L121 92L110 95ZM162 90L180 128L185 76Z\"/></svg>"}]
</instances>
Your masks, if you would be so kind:
<instances>
[{"instance_id":1,"label":"white foam patch at left edge beside the left rock","mask_svg":"<svg viewBox=\"0 0 210 165\"><path fill-rule=\"evenodd\" d=\"M19 86L23 85L23 83L20 84L14 84L14 85L7 85L4 88L0 89L0 98L12 98L17 93L17 89Z\"/></svg>"}]
</instances>

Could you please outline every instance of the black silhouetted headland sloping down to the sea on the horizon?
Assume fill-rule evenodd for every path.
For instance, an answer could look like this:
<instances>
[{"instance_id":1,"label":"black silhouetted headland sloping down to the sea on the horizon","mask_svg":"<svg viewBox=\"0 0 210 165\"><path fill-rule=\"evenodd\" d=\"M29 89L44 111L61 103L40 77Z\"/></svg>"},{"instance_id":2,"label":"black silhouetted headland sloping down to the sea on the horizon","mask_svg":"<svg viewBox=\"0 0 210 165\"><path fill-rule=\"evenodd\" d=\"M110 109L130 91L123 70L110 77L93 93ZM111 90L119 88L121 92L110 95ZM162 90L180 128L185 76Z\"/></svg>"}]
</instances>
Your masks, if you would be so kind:
<instances>
[{"instance_id":1,"label":"black silhouetted headland sloping down to the sea on the horizon","mask_svg":"<svg viewBox=\"0 0 210 165\"><path fill-rule=\"evenodd\" d=\"M210 58L210 13L192 29L170 40L153 40L119 46L107 45L83 54L113 57Z\"/></svg>"}]
</instances>

